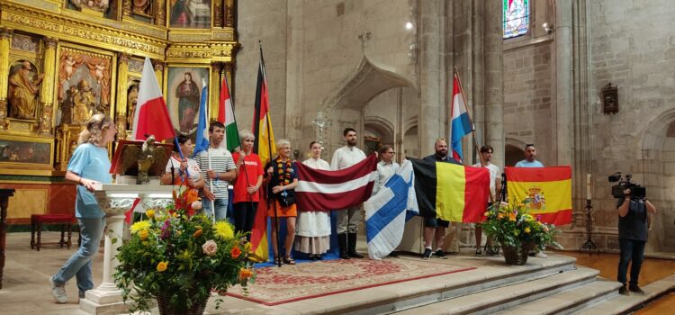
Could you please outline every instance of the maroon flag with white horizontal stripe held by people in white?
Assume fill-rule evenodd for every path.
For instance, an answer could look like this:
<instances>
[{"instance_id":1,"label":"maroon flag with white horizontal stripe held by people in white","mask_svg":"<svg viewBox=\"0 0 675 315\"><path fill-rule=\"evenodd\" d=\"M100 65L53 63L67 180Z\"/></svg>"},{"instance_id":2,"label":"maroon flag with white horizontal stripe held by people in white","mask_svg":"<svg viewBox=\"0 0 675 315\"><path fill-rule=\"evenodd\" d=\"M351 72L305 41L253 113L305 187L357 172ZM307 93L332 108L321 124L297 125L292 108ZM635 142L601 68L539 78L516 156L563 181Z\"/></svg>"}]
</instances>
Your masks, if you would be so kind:
<instances>
[{"instance_id":1,"label":"maroon flag with white horizontal stripe held by people in white","mask_svg":"<svg viewBox=\"0 0 675 315\"><path fill-rule=\"evenodd\" d=\"M377 157L338 171L325 171L297 164L298 186L295 187L301 211L342 210L365 202L373 193L377 176Z\"/></svg>"}]
</instances>

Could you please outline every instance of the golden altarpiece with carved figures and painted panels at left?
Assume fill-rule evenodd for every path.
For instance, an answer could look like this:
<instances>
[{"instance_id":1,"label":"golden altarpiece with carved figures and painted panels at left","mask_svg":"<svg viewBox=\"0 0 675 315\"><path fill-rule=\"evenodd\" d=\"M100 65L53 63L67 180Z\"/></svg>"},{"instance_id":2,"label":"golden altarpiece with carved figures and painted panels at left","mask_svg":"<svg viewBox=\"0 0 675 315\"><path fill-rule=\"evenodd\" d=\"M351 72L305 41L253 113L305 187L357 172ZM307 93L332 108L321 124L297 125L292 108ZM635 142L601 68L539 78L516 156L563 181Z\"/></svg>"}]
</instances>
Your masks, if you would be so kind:
<instances>
[{"instance_id":1,"label":"golden altarpiece with carved figures and painted panels at left","mask_svg":"<svg viewBox=\"0 0 675 315\"><path fill-rule=\"evenodd\" d=\"M217 114L220 82L231 82L238 47L236 5L0 0L0 187L15 188L14 200L24 201L9 221L72 211L63 176L78 134L104 112L118 138L127 137L144 58L152 60L176 132L194 133L202 82Z\"/></svg>"}]
</instances>

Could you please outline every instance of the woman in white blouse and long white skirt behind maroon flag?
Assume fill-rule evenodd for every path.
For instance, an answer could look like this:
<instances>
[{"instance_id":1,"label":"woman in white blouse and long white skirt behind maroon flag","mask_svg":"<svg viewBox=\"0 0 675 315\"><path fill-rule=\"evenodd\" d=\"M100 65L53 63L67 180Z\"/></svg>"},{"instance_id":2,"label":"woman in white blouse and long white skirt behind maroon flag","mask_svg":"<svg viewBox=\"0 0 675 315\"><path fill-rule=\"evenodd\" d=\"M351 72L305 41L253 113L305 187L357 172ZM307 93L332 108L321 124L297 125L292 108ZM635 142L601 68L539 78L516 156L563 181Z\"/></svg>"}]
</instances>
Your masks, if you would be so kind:
<instances>
[{"instance_id":1,"label":"woman in white blouse and long white skirt behind maroon flag","mask_svg":"<svg viewBox=\"0 0 675 315\"><path fill-rule=\"evenodd\" d=\"M321 144L311 141L311 157L302 164L311 168L330 170L329 162L321 159ZM308 254L311 260L322 259L330 247L329 211L300 211L295 238L295 250Z\"/></svg>"}]
</instances>

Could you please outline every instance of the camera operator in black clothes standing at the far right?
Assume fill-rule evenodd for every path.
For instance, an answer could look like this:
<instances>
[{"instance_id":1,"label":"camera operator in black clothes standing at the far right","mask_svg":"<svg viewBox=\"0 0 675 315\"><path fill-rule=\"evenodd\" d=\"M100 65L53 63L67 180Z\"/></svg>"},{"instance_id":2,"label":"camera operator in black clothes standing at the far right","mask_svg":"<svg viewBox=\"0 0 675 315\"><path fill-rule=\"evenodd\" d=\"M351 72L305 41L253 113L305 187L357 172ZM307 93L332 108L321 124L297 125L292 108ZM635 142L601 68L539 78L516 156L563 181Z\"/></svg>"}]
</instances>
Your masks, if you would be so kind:
<instances>
[{"instance_id":1,"label":"camera operator in black clothes standing at the far right","mask_svg":"<svg viewBox=\"0 0 675 315\"><path fill-rule=\"evenodd\" d=\"M618 199L617 210L621 248L617 281L624 284L619 289L619 294L629 295L629 291L644 294L637 286L637 280L640 276L640 267L643 265L644 244L647 242L647 212L656 213L656 208L647 198L631 195L631 189L628 188L624 190L624 196ZM628 263L631 263L631 281L626 287Z\"/></svg>"}]
</instances>

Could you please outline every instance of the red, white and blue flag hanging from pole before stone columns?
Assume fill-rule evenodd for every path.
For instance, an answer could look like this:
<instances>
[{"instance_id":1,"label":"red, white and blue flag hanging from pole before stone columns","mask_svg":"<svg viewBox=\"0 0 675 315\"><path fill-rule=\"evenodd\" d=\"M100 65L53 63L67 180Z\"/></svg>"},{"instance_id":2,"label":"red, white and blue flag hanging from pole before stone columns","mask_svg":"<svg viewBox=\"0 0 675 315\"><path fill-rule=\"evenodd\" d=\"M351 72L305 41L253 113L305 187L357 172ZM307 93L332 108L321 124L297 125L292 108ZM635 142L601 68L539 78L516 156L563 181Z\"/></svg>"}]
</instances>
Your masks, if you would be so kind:
<instances>
[{"instance_id":1,"label":"red, white and blue flag hanging from pole before stone columns","mask_svg":"<svg viewBox=\"0 0 675 315\"><path fill-rule=\"evenodd\" d=\"M473 131L473 123L466 112L464 95L460 89L459 76L453 80L453 102L450 105L452 120L450 121L450 142L455 161L462 163L462 138Z\"/></svg>"}]
</instances>

